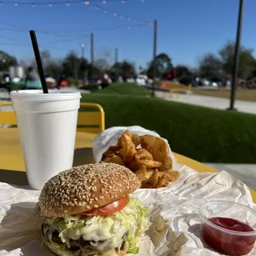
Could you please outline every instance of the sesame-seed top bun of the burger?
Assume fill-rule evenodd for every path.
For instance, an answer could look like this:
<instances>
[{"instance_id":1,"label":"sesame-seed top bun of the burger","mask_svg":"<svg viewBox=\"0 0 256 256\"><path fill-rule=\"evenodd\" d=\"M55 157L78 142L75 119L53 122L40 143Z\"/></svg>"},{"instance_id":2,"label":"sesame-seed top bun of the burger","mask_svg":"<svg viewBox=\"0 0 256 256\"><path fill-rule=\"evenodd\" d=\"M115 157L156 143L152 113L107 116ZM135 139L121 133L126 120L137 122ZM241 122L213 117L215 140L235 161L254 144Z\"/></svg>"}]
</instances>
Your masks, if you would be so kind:
<instances>
[{"instance_id":1,"label":"sesame-seed top bun of the burger","mask_svg":"<svg viewBox=\"0 0 256 256\"><path fill-rule=\"evenodd\" d=\"M114 163L76 166L50 178L34 209L36 217L58 218L106 206L138 188L136 174Z\"/></svg>"}]
</instances>

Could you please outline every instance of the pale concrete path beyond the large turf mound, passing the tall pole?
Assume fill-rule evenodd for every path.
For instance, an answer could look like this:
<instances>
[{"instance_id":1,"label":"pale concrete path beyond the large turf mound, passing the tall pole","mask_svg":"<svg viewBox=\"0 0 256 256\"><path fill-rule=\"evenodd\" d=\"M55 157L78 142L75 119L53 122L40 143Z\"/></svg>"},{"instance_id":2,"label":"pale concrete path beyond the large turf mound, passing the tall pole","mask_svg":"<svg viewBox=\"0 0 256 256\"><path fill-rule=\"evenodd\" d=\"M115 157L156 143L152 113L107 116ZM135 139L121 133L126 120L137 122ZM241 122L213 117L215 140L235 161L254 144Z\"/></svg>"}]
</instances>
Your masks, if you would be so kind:
<instances>
[{"instance_id":1,"label":"pale concrete path beyond the large turf mound, passing the tall pole","mask_svg":"<svg viewBox=\"0 0 256 256\"><path fill-rule=\"evenodd\" d=\"M170 96L169 93L161 91L156 92L156 96L158 98L164 98L168 101L183 102L197 106L207 106L219 110L226 110L230 106L230 101L226 98L217 98L191 94L173 94L173 96ZM256 102L246 102L237 100L235 101L235 107L237 108L238 111L256 114Z\"/></svg>"}]
</instances>

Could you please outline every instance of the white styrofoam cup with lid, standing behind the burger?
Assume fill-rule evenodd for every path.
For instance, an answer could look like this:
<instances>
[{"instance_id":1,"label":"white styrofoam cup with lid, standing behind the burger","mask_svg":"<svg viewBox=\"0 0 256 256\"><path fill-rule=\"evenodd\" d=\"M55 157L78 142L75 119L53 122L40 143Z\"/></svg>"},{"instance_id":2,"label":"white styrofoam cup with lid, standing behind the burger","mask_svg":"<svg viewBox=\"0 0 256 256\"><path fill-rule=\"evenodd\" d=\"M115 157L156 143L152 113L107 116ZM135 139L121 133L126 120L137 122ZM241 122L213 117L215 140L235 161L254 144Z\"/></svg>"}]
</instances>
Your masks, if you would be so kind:
<instances>
[{"instance_id":1,"label":"white styrofoam cup with lid, standing behind the burger","mask_svg":"<svg viewBox=\"0 0 256 256\"><path fill-rule=\"evenodd\" d=\"M73 165L74 143L81 94L49 90L10 93L30 186L44 184Z\"/></svg>"}]
</instances>

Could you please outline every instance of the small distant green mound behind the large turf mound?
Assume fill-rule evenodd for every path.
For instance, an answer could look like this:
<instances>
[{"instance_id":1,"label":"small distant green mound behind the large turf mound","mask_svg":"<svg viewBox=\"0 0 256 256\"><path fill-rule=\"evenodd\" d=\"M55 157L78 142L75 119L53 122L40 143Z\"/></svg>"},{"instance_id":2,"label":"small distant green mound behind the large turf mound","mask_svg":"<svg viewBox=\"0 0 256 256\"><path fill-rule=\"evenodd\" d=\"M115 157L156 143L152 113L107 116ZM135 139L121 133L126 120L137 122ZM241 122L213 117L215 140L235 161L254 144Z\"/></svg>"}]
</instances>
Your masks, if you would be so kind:
<instances>
[{"instance_id":1,"label":"small distant green mound behind the large turf mound","mask_svg":"<svg viewBox=\"0 0 256 256\"><path fill-rule=\"evenodd\" d=\"M150 95L149 90L146 90L143 86L138 86L134 83L129 82L114 82L110 86L103 90L96 90L96 94L122 94L122 95L133 95L133 96L148 96Z\"/></svg>"}]
</instances>

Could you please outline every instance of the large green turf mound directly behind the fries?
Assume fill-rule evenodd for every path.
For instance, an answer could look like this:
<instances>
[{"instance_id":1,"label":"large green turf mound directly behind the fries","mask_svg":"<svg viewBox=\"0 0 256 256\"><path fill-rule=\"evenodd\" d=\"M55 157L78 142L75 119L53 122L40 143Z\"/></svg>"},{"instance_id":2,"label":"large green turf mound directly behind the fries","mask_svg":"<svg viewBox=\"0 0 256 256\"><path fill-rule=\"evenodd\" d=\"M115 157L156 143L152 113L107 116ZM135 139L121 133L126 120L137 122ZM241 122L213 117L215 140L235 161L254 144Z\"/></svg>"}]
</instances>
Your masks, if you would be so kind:
<instances>
[{"instance_id":1,"label":"large green turf mound directly behind the fries","mask_svg":"<svg viewBox=\"0 0 256 256\"><path fill-rule=\"evenodd\" d=\"M82 102L103 106L106 128L155 130L174 152L200 162L256 163L256 115L117 94L83 94Z\"/></svg>"}]
</instances>

